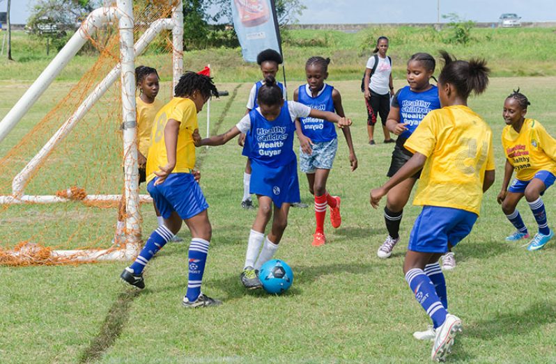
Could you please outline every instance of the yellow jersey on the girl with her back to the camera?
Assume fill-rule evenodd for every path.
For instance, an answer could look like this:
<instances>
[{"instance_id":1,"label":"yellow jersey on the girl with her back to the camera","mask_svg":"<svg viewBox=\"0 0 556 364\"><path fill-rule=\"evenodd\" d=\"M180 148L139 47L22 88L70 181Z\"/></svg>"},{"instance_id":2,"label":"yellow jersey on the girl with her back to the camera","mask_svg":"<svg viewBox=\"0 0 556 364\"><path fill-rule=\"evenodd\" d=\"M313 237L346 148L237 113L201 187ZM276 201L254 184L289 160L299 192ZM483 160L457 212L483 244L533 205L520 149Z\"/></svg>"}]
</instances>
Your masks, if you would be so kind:
<instances>
[{"instance_id":1,"label":"yellow jersey on the girl with her back to the camera","mask_svg":"<svg viewBox=\"0 0 556 364\"><path fill-rule=\"evenodd\" d=\"M468 106L430 111L404 146L427 157L413 205L479 215L485 171L494 169L492 130Z\"/></svg>"}]
</instances>

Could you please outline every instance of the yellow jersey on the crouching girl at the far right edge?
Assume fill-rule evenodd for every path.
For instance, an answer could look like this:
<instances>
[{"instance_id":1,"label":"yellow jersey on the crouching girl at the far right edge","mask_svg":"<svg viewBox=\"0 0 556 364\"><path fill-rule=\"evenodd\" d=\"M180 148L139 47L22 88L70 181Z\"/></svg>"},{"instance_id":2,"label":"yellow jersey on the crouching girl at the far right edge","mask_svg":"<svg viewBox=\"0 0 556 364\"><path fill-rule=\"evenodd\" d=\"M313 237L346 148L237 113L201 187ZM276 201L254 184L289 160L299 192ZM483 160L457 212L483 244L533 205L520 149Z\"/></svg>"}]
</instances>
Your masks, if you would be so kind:
<instances>
[{"instance_id":1,"label":"yellow jersey on the crouching girl at the far right edge","mask_svg":"<svg viewBox=\"0 0 556 364\"><path fill-rule=\"evenodd\" d=\"M518 180L531 180L541 170L556 175L556 140L540 122L525 119L519 133L507 125L502 130L502 146Z\"/></svg>"}]
</instances>

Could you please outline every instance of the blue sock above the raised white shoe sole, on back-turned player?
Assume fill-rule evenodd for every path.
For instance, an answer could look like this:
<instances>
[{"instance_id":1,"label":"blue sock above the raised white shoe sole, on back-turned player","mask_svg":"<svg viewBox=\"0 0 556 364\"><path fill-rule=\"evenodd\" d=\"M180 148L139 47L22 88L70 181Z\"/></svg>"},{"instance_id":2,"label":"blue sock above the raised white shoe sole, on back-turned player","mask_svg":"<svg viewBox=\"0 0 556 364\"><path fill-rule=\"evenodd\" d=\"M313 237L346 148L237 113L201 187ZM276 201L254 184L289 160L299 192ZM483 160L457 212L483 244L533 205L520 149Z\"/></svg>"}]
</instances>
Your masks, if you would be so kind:
<instances>
[{"instance_id":1,"label":"blue sock above the raised white shoe sole, on back-turned player","mask_svg":"<svg viewBox=\"0 0 556 364\"><path fill-rule=\"evenodd\" d=\"M440 327L445 322L448 311L442 306L431 278L424 274L423 269L414 268L406 273L406 280L417 302L433 320L434 328Z\"/></svg>"}]
</instances>

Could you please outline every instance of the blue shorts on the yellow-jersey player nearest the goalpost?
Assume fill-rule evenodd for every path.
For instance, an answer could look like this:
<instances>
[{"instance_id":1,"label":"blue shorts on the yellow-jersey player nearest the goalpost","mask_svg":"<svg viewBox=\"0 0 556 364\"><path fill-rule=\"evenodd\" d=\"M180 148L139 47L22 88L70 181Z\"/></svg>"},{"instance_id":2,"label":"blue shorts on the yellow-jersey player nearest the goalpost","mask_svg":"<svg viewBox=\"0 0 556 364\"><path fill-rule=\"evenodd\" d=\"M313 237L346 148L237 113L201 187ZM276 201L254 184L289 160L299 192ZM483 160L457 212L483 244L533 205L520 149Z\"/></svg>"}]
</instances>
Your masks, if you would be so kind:
<instances>
[{"instance_id":1,"label":"blue shorts on the yellow-jersey player nearest the goalpost","mask_svg":"<svg viewBox=\"0 0 556 364\"><path fill-rule=\"evenodd\" d=\"M157 179L148 182L147 191L164 219L175 211L181 219L187 220L208 209L203 191L192 173L170 173L164 182L155 186Z\"/></svg>"}]
</instances>

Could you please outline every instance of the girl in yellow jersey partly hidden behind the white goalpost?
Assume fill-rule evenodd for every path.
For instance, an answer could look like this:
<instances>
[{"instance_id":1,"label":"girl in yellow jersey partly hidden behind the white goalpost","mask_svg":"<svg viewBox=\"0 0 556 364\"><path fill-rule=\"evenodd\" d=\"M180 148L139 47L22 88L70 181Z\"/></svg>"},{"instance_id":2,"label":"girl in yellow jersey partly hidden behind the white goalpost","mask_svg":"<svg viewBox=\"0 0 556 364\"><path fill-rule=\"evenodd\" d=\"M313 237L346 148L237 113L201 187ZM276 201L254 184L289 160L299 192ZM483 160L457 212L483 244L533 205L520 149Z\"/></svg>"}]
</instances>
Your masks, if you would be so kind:
<instances>
[{"instance_id":1,"label":"girl in yellow jersey partly hidden behind the white goalpost","mask_svg":"<svg viewBox=\"0 0 556 364\"><path fill-rule=\"evenodd\" d=\"M160 90L158 72L155 68L140 65L135 68L135 82L139 96L135 97L137 104L137 164L139 165L139 184L146 181L145 166L147 162L148 146L150 144L150 131L153 129L153 121L157 112L164 106L160 100L156 100ZM153 205L154 202L153 202ZM156 209L158 225L164 224L164 219ZM125 239L125 200L120 200L118 207L118 223L114 244L120 244ZM178 236L173 237L172 242L183 242Z\"/></svg>"}]
</instances>

